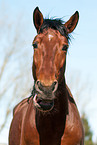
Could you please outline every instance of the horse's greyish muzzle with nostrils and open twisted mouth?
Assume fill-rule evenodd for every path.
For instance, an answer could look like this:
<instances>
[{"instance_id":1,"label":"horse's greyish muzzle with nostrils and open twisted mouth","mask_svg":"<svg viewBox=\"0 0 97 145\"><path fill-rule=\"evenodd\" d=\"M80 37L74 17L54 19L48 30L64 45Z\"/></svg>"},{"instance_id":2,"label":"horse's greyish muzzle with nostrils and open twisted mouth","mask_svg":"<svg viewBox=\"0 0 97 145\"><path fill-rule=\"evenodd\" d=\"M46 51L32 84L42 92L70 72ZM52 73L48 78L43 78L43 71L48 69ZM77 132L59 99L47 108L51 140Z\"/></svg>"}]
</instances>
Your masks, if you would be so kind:
<instances>
[{"instance_id":1,"label":"horse's greyish muzzle with nostrils and open twisted mouth","mask_svg":"<svg viewBox=\"0 0 97 145\"><path fill-rule=\"evenodd\" d=\"M54 107L55 92L58 82L55 81L51 86L43 86L40 81L35 83L34 106L41 111L51 111Z\"/></svg>"}]
</instances>

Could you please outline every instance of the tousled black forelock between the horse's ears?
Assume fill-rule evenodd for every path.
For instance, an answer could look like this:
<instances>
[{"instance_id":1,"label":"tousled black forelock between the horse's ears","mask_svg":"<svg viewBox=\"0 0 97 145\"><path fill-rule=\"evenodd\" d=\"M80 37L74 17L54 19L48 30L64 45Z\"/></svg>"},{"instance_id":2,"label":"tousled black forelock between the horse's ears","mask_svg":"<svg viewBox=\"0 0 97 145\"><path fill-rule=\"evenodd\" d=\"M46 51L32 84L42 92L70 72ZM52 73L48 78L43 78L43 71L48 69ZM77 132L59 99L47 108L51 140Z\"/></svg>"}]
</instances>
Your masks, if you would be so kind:
<instances>
[{"instance_id":1,"label":"tousled black forelock between the horse's ears","mask_svg":"<svg viewBox=\"0 0 97 145\"><path fill-rule=\"evenodd\" d=\"M61 19L44 19L39 33L43 33L43 30L48 29L48 28L58 30L61 35L65 36L67 38L67 40L70 39L69 35L67 33L67 29L63 25L63 21Z\"/></svg>"}]
</instances>

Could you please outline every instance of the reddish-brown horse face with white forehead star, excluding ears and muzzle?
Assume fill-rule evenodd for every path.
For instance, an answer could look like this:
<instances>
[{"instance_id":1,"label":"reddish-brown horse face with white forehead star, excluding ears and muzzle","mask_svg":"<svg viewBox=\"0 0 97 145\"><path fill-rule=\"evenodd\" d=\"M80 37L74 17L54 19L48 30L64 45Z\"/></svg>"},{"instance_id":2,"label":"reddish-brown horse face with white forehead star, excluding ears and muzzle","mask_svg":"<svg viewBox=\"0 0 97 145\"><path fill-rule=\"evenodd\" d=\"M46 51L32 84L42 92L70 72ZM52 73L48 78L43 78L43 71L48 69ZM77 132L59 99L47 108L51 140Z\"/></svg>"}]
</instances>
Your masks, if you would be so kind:
<instances>
[{"instance_id":1,"label":"reddish-brown horse face with white forehead star, excluding ears and muzzle","mask_svg":"<svg viewBox=\"0 0 97 145\"><path fill-rule=\"evenodd\" d=\"M58 31L48 29L35 37L33 72L35 80L45 87L60 81L60 72L65 64L67 39Z\"/></svg>"}]
</instances>

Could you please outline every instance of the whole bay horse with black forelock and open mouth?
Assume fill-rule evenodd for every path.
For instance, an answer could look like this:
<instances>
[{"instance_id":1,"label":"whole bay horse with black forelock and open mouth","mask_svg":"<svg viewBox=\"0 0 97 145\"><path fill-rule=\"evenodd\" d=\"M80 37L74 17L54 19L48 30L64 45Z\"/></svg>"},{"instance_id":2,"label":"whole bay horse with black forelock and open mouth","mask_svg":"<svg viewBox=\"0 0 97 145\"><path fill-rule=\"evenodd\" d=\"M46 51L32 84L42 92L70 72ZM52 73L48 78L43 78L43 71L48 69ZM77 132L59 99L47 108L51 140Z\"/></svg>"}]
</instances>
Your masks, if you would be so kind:
<instances>
[{"instance_id":1,"label":"whole bay horse with black forelock and open mouth","mask_svg":"<svg viewBox=\"0 0 97 145\"><path fill-rule=\"evenodd\" d=\"M69 35L78 19L76 11L63 24L61 19L44 19L35 8L35 82L31 96L14 108L9 145L84 145L81 118L64 76Z\"/></svg>"}]
</instances>

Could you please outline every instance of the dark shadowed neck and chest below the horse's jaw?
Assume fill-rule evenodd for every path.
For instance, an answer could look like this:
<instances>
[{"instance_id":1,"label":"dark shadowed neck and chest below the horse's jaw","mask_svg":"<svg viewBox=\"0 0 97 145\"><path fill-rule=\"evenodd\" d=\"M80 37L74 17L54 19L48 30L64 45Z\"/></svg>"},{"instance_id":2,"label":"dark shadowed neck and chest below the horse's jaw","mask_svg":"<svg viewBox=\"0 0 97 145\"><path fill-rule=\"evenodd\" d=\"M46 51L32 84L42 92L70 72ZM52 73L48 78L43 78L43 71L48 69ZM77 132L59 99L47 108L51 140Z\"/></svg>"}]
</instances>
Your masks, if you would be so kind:
<instances>
[{"instance_id":1,"label":"dark shadowed neck and chest below the horse's jaw","mask_svg":"<svg viewBox=\"0 0 97 145\"><path fill-rule=\"evenodd\" d=\"M39 132L41 145L59 145L64 133L68 100L65 79L60 83L55 94L54 108L50 112L36 109L36 128Z\"/></svg>"}]
</instances>

